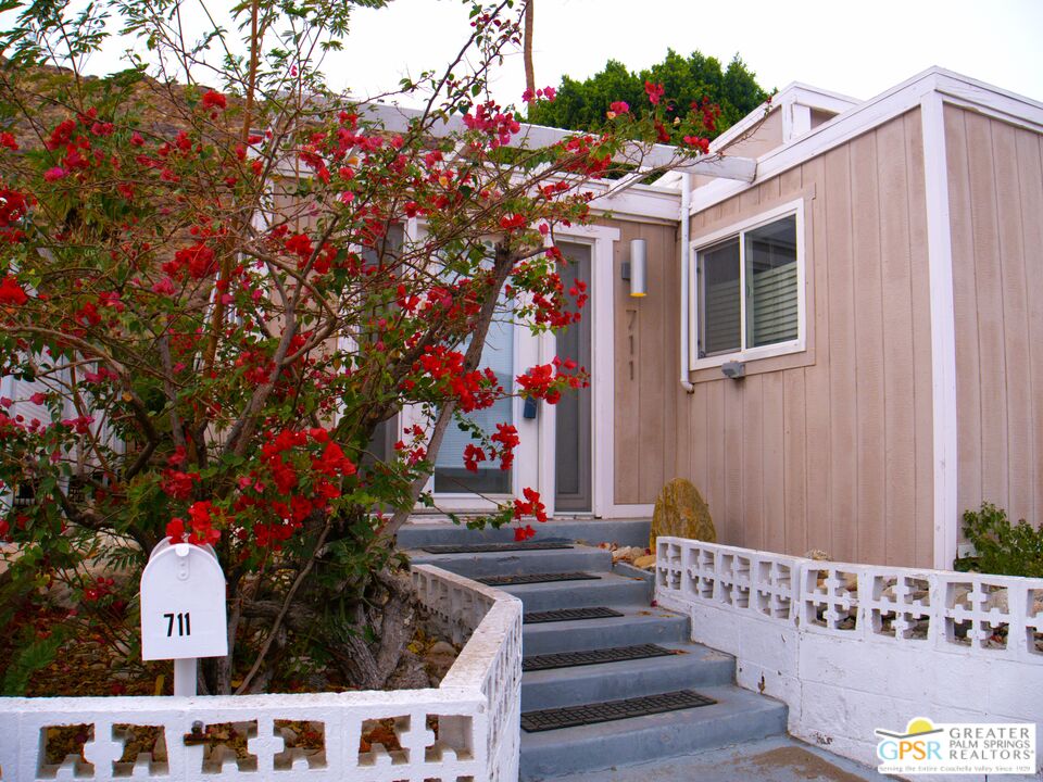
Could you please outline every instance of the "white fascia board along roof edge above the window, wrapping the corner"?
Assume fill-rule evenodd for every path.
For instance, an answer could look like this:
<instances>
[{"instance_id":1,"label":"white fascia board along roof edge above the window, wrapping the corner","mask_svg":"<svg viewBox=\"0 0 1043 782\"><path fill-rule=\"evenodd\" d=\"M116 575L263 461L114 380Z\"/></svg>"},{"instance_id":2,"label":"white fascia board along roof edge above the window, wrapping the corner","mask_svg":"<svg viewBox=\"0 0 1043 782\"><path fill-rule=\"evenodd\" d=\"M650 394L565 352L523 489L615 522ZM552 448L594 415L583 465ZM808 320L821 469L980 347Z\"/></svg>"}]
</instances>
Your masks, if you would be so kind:
<instances>
[{"instance_id":1,"label":"white fascia board along roof edge above the window, wrapping the corner","mask_svg":"<svg viewBox=\"0 0 1043 782\"><path fill-rule=\"evenodd\" d=\"M931 67L819 125L792 143L762 155L757 159L756 181L793 168L919 106L920 101L932 92L940 93L947 103L1043 133L1043 103L951 71ZM713 181L696 188L692 192L691 213L702 212L752 186L737 181Z\"/></svg>"}]
</instances>

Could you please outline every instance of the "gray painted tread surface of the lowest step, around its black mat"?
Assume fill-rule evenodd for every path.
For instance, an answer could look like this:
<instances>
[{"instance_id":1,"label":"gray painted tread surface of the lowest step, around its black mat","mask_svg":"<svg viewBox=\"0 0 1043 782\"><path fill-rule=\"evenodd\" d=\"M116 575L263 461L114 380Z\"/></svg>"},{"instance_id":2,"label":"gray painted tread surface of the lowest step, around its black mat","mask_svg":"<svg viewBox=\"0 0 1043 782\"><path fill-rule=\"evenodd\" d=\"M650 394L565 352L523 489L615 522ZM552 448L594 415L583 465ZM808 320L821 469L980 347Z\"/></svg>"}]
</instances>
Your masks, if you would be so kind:
<instances>
[{"instance_id":1,"label":"gray painted tread surface of the lowest step, around its black mat","mask_svg":"<svg viewBox=\"0 0 1043 782\"><path fill-rule=\"evenodd\" d=\"M786 705L755 693L742 690L734 685L694 688L701 695L715 699L713 706L684 709L681 711L666 711L663 714L634 717L631 719L600 722L598 724L562 728L555 731L540 733L522 732L523 755L546 752L552 747L569 747L575 749L583 744L599 744L602 742L628 742L639 732L663 731L664 729L680 730L692 734L698 726L716 726L725 728L730 718L742 720L749 727L750 721L758 715L782 716L781 730L786 729ZM709 733L709 731L706 731ZM731 731L729 731L731 732ZM778 731L775 731L778 732ZM628 739L629 736L629 739ZM707 735L713 740L713 735ZM762 736L757 736L762 737ZM742 740L742 737L740 737ZM732 742L733 743L733 742ZM709 744L722 746L722 744Z\"/></svg>"}]
</instances>

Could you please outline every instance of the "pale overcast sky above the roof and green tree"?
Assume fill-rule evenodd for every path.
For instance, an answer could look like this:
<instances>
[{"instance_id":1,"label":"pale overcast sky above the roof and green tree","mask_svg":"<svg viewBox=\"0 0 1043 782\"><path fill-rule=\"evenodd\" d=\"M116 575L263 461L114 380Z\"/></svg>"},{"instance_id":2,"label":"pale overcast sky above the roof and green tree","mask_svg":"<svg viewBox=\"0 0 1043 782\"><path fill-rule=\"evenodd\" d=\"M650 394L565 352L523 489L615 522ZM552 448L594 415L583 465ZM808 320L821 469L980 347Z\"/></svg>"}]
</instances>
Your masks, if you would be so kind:
<instances>
[{"instance_id":1,"label":"pale overcast sky above the roof and green tree","mask_svg":"<svg viewBox=\"0 0 1043 782\"><path fill-rule=\"evenodd\" d=\"M941 65L1043 101L1043 0L536 0L536 76L589 76L610 58L640 70L667 48L727 62L739 53L767 89L791 81L867 99ZM355 11L331 81L366 93L444 60L466 18L456 0L392 0ZM342 74L342 75L341 75ZM517 101L522 58L497 97Z\"/></svg>"}]
</instances>

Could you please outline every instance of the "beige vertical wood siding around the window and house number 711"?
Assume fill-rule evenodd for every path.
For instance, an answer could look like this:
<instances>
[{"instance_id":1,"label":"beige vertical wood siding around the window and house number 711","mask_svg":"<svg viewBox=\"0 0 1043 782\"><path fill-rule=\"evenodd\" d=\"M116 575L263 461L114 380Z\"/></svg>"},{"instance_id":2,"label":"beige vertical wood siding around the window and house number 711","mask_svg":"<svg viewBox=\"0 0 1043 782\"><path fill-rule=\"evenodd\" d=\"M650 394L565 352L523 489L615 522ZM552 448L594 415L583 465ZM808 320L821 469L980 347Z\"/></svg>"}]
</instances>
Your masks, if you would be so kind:
<instances>
[{"instance_id":1,"label":"beige vertical wood siding around the window and house number 711","mask_svg":"<svg viewBox=\"0 0 1043 782\"><path fill-rule=\"evenodd\" d=\"M919 111L694 215L692 237L800 198L810 350L803 360L747 363L741 381L699 374L692 394L677 379L676 238L665 228L619 224L617 262L630 238L649 239L650 286L633 304L618 283L617 306L638 311L640 340L630 381L619 352L626 319L617 317L616 501L654 502L663 482L686 477L706 497L724 543L929 566L930 302ZM644 464L656 455L661 468Z\"/></svg>"}]
</instances>

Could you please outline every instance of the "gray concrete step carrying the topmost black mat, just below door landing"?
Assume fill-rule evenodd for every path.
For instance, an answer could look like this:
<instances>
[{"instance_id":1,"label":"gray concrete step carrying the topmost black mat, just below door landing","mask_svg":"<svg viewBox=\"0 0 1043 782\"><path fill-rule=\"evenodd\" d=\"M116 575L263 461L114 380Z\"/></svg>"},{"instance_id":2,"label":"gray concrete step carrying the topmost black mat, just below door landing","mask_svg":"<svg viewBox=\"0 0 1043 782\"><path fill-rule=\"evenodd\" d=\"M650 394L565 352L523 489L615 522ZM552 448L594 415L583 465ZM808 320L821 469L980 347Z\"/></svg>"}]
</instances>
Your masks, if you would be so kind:
<instances>
[{"instance_id":1,"label":"gray concrete step carrying the topmost black mat, just below door landing","mask_svg":"<svg viewBox=\"0 0 1043 782\"><path fill-rule=\"evenodd\" d=\"M603 548L574 545L571 548L483 552L481 554L428 554L420 548L406 552L416 565L436 565L461 576L517 576L536 572L607 571L612 554Z\"/></svg>"}]
</instances>

